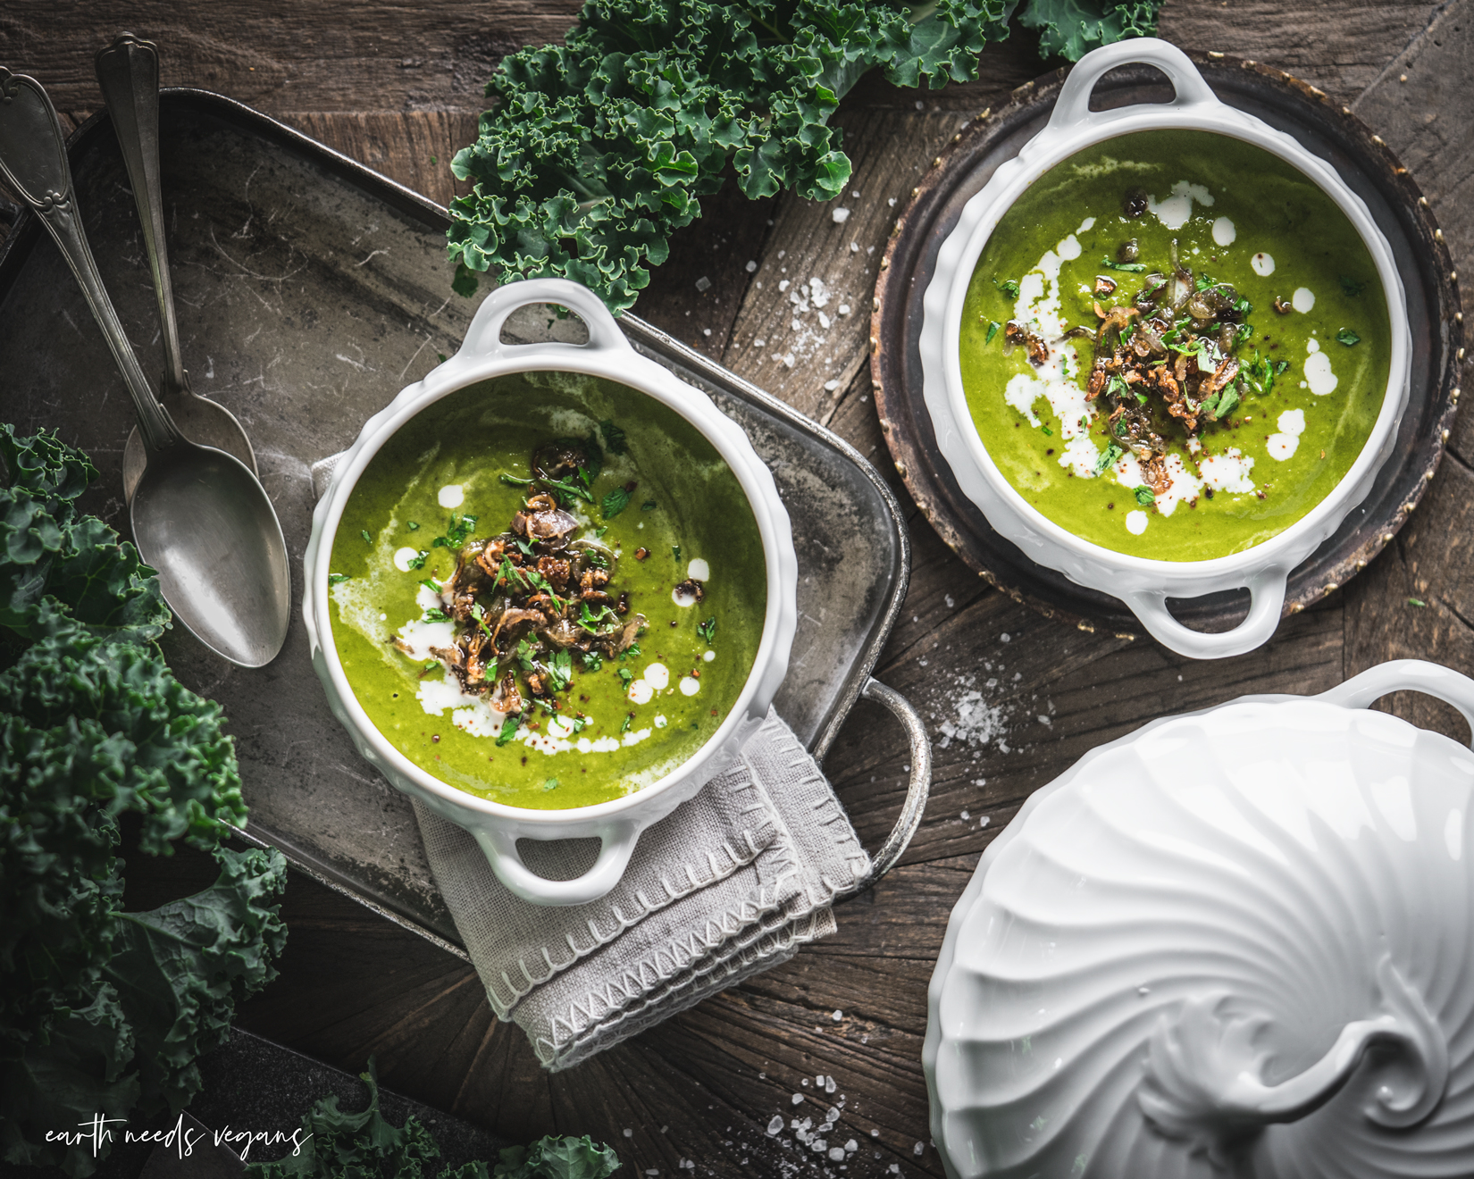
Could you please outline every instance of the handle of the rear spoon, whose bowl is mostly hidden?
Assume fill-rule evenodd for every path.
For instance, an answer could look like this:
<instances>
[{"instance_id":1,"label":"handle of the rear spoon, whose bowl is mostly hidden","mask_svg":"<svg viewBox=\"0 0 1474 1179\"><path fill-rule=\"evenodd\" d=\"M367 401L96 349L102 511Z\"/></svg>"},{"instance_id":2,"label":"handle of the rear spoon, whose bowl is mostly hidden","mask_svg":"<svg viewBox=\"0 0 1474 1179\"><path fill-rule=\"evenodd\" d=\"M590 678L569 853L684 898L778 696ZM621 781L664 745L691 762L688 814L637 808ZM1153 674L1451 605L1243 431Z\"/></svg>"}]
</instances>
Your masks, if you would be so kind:
<instances>
[{"instance_id":1,"label":"handle of the rear spoon, whose bowl is mostly hidden","mask_svg":"<svg viewBox=\"0 0 1474 1179\"><path fill-rule=\"evenodd\" d=\"M153 271L153 292L159 298L164 324L164 392L186 388L184 360L180 355L180 330L174 318L174 284L170 280L170 252L164 237L164 196L159 186L159 52L152 41L124 32L96 59L97 84L112 116L112 128L122 147L133 199L143 223L143 248Z\"/></svg>"}]
</instances>

